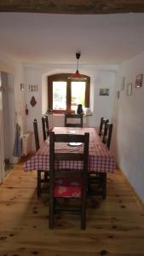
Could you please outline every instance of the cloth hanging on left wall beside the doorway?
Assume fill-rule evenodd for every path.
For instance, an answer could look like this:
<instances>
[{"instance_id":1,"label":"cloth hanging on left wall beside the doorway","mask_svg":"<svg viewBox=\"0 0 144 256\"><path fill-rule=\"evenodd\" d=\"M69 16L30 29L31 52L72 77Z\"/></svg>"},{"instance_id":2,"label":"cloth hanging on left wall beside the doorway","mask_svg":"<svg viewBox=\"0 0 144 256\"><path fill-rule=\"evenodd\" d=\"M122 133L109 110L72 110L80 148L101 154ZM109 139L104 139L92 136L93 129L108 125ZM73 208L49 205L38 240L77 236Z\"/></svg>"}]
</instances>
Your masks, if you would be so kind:
<instances>
[{"instance_id":1,"label":"cloth hanging on left wall beside the doorway","mask_svg":"<svg viewBox=\"0 0 144 256\"><path fill-rule=\"evenodd\" d=\"M21 148L21 139L20 139L20 125L16 123L16 130L15 130L15 139L14 139L14 156L21 156L22 148Z\"/></svg>"}]
</instances>

